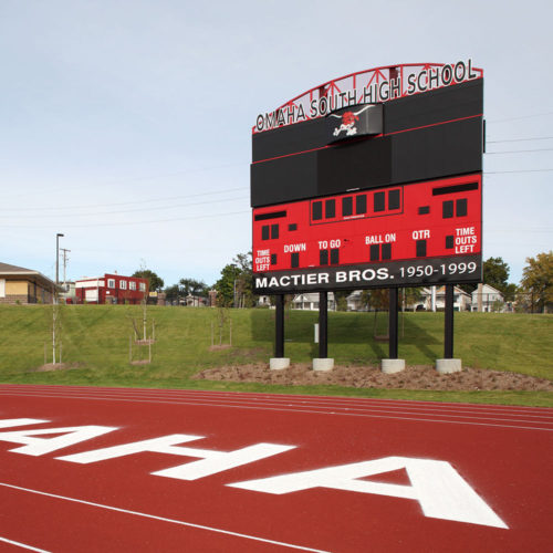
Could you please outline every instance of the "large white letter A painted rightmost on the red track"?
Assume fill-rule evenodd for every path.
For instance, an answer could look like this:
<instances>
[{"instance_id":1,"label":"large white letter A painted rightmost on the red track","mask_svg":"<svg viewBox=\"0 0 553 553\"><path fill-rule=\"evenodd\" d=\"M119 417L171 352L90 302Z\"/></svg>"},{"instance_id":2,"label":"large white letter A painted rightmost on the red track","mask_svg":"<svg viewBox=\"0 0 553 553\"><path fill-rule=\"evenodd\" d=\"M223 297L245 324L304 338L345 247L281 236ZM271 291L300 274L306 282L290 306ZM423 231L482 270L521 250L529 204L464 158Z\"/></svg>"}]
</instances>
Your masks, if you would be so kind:
<instances>
[{"instance_id":1,"label":"large white letter A painted rightmost on the red track","mask_svg":"<svg viewBox=\"0 0 553 553\"><path fill-rule=\"evenodd\" d=\"M411 486L369 482L362 478L405 469ZM312 488L414 499L425 517L503 528L507 524L446 461L386 457L304 472L228 484L265 493L291 493Z\"/></svg>"}]
</instances>

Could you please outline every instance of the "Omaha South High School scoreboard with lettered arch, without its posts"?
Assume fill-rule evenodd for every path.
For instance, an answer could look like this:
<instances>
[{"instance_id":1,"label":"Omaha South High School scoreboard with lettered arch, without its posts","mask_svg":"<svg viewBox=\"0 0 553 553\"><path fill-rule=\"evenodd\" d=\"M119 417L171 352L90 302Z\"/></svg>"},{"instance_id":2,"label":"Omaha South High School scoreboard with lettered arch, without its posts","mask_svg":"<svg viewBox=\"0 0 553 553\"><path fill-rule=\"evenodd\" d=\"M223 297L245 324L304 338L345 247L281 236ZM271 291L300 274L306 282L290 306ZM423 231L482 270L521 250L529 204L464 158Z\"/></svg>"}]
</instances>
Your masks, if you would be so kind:
<instances>
[{"instance_id":1,"label":"Omaha South High School scoreboard with lettered arch, without its posts","mask_svg":"<svg viewBox=\"0 0 553 553\"><path fill-rule=\"evenodd\" d=\"M272 119L258 118L251 165L255 293L481 280L483 79L467 65L465 80L451 76L448 84L444 67L459 76L458 64L435 73L422 65L428 69L414 77L421 86L410 94L414 73L387 67L388 91L396 94L386 100L377 94L386 76L380 69L380 88L368 83L363 94L358 86L342 93L349 105L331 108L326 83L303 95L312 107L313 98L320 107L326 97L324 115L315 109L313 117L290 117L300 112L299 97ZM441 85L427 90L438 74ZM367 90L372 102L358 103ZM260 129L260 121L273 128Z\"/></svg>"}]
</instances>

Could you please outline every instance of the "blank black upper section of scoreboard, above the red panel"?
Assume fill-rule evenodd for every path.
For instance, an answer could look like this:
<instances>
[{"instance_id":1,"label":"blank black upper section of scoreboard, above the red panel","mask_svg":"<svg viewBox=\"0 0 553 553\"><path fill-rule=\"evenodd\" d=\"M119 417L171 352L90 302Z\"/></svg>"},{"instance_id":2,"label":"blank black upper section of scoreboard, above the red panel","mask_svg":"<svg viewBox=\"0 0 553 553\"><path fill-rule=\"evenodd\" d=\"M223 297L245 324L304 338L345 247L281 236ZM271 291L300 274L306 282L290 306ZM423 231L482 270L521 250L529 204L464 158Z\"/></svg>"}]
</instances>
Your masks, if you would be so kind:
<instances>
[{"instance_id":1,"label":"blank black upper section of scoreboard, above the red panel","mask_svg":"<svg viewBox=\"0 0 553 553\"><path fill-rule=\"evenodd\" d=\"M384 133L327 145L325 118L253 135L251 205L482 170L482 79L384 104Z\"/></svg>"}]
</instances>

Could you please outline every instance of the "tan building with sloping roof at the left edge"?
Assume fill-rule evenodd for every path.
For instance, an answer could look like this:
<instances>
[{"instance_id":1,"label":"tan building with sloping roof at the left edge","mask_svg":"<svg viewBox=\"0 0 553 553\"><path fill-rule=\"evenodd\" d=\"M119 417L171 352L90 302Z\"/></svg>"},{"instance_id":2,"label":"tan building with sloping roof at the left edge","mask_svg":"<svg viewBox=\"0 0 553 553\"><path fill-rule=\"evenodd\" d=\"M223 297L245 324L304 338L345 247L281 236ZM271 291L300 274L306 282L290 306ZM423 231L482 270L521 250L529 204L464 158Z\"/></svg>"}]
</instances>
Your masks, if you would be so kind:
<instances>
[{"instance_id":1,"label":"tan building with sloping roof at the left edge","mask_svg":"<svg viewBox=\"0 0 553 553\"><path fill-rule=\"evenodd\" d=\"M39 271L0 263L0 303L52 303L55 288Z\"/></svg>"}]
</instances>

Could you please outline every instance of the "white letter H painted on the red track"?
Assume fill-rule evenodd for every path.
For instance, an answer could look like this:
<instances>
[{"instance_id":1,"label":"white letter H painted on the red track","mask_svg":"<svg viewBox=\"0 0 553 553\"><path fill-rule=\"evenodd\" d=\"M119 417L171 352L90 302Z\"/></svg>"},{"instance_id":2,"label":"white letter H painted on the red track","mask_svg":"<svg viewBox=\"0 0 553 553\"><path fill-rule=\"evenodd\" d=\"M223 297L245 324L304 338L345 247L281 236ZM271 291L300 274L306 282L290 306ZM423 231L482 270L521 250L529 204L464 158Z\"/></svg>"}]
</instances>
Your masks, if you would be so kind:
<instances>
[{"instance_id":1,"label":"white letter H painted on the red track","mask_svg":"<svg viewBox=\"0 0 553 553\"><path fill-rule=\"evenodd\" d=\"M180 457L196 457L201 460L158 470L152 472L152 474L177 478L179 480L197 480L295 448L295 446L281 446L279 444L254 444L253 446L237 449L236 451L216 451L212 449L197 449L178 446L178 444L202 438L204 436L173 434L169 436L161 436L160 438L59 457L58 459L86 465L144 451L176 455Z\"/></svg>"}]
</instances>

